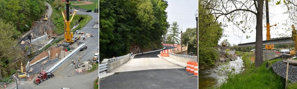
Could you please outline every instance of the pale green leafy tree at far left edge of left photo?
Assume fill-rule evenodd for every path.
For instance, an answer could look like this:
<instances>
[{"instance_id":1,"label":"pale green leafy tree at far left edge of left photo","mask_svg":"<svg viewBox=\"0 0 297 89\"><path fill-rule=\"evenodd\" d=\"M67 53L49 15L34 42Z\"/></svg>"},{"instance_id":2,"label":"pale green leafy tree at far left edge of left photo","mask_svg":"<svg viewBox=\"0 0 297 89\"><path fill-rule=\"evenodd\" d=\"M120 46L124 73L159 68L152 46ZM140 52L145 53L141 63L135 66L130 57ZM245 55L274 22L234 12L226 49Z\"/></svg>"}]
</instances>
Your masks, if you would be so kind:
<instances>
[{"instance_id":1,"label":"pale green leafy tree at far left edge of left photo","mask_svg":"<svg viewBox=\"0 0 297 89\"><path fill-rule=\"evenodd\" d=\"M12 22L0 21L0 70L2 75L9 75L8 71L14 69L13 59L20 57L20 47L15 37L20 35ZM10 51L8 51L10 50ZM0 75L1 76L1 75Z\"/></svg>"}]
</instances>

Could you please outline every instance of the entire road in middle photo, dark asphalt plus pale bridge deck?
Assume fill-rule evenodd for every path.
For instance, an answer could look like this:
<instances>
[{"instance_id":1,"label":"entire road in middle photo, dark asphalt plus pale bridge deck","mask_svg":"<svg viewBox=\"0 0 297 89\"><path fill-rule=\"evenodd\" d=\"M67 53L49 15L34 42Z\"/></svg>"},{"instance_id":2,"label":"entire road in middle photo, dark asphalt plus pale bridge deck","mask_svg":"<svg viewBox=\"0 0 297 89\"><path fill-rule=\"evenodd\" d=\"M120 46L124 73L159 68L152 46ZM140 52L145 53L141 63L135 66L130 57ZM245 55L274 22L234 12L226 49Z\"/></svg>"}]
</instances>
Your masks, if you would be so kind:
<instances>
[{"instance_id":1,"label":"entire road in middle photo, dark asphalt plus pale bridge deck","mask_svg":"<svg viewBox=\"0 0 297 89\"><path fill-rule=\"evenodd\" d=\"M173 47L165 46L166 49ZM136 55L99 81L102 89L197 89L198 77L161 58L160 52ZM157 56L158 57L158 56ZM158 64L156 64L158 63ZM162 69L163 68L163 69ZM134 71L133 71L134 70ZM138 70L138 71L135 71Z\"/></svg>"}]
</instances>

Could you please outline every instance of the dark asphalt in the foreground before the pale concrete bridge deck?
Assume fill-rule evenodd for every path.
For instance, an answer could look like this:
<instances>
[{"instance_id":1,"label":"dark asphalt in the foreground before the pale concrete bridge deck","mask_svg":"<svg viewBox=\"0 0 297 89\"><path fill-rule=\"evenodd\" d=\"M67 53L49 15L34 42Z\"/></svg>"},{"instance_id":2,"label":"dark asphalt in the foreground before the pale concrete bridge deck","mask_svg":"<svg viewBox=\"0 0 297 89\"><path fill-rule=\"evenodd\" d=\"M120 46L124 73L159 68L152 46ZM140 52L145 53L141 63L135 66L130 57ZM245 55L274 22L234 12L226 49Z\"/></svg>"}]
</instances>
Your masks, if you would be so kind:
<instances>
[{"instance_id":1,"label":"dark asphalt in the foreground before the pale concrete bridge deck","mask_svg":"<svg viewBox=\"0 0 297 89\"><path fill-rule=\"evenodd\" d=\"M198 79L185 69L119 72L99 81L100 89L197 89Z\"/></svg>"}]
</instances>

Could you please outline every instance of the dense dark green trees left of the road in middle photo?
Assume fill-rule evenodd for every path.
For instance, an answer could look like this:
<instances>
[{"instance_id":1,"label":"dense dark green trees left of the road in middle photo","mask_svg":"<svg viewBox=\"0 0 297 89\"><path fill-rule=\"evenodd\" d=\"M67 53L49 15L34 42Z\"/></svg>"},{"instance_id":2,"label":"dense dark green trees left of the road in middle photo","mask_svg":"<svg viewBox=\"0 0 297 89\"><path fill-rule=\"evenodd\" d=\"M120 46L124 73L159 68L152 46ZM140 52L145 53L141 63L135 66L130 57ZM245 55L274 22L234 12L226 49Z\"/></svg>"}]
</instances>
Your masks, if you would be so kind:
<instances>
[{"instance_id":1,"label":"dense dark green trees left of the road in middle photo","mask_svg":"<svg viewBox=\"0 0 297 89\"><path fill-rule=\"evenodd\" d=\"M99 0L99 59L162 48L169 28L164 0Z\"/></svg>"}]
</instances>

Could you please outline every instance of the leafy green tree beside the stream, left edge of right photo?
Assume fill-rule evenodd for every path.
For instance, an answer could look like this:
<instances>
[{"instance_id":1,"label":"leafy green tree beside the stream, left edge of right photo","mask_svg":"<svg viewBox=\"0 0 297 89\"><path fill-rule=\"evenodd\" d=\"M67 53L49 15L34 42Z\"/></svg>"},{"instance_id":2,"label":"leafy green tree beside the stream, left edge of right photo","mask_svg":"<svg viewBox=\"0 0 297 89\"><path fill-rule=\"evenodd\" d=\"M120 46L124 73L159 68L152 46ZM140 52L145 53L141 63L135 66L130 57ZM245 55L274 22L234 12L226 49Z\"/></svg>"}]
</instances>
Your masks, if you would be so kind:
<instances>
[{"instance_id":1,"label":"leafy green tree beside the stream, left edge of right photo","mask_svg":"<svg viewBox=\"0 0 297 89\"><path fill-rule=\"evenodd\" d=\"M216 50L219 39L223 35L221 25L215 21L214 15L210 10L198 5L198 63L199 67L212 66L219 59L219 53Z\"/></svg>"}]
</instances>

